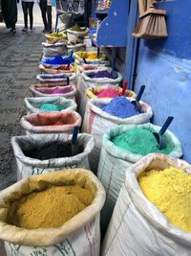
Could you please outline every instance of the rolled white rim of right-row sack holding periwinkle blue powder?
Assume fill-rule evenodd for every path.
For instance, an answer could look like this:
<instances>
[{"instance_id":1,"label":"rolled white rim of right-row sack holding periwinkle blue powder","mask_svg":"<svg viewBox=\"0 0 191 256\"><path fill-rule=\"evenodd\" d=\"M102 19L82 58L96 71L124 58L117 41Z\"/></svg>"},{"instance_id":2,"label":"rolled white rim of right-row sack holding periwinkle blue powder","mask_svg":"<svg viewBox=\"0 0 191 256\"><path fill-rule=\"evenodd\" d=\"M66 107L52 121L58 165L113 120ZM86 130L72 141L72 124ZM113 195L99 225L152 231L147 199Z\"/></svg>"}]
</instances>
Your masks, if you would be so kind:
<instances>
[{"instance_id":1,"label":"rolled white rim of right-row sack holding periwinkle blue powder","mask_svg":"<svg viewBox=\"0 0 191 256\"><path fill-rule=\"evenodd\" d=\"M133 101L133 98L128 98L126 97L129 101ZM127 118L120 118L114 115L111 115L109 113L107 113L106 111L103 111L100 107L98 107L96 104L100 104L100 105L108 105L113 99L106 99L106 100L99 100L99 99L90 99L90 101L88 102L87 107L90 108L91 111L95 112L97 115L111 121L114 122L115 124L120 124L120 125L125 125L125 124L134 124L134 125L138 125L138 124L142 124L143 120L150 120L153 116L153 109L150 105L139 101L140 105L142 105L142 107L144 108L144 110L146 110L146 112L144 113L139 113L138 115L134 115L131 117L127 117ZM136 117L136 119L135 119Z\"/></svg>"}]
</instances>

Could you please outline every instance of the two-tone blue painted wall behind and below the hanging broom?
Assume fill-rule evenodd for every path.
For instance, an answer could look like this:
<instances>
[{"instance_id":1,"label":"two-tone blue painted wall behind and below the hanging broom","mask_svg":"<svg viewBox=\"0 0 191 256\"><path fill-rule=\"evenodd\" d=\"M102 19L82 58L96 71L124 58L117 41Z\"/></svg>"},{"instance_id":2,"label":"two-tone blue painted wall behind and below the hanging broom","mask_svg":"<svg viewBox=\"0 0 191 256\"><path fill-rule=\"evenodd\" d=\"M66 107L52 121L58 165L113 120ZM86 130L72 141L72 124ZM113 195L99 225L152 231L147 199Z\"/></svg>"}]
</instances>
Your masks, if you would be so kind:
<instances>
[{"instance_id":1,"label":"two-tone blue painted wall behind and below the hanging broom","mask_svg":"<svg viewBox=\"0 0 191 256\"><path fill-rule=\"evenodd\" d=\"M183 159L191 163L191 1L168 0L158 6L168 11L167 39L141 40L135 90L146 85L142 100L153 106L153 123L161 126L168 115L180 139Z\"/></svg>"}]
</instances>

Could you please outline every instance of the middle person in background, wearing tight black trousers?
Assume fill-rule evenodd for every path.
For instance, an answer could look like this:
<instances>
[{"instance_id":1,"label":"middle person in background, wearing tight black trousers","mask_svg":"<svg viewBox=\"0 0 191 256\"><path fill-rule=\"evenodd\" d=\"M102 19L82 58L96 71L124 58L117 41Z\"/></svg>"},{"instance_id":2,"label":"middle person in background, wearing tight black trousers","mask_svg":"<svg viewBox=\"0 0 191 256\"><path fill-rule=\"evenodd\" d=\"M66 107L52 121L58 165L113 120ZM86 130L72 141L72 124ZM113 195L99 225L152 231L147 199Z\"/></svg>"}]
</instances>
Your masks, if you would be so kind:
<instances>
[{"instance_id":1,"label":"middle person in background, wearing tight black trousers","mask_svg":"<svg viewBox=\"0 0 191 256\"><path fill-rule=\"evenodd\" d=\"M22 0L22 9L25 23L25 28L22 30L23 32L28 32L28 12L30 16L30 31L33 32L33 2L34 0Z\"/></svg>"}]
</instances>

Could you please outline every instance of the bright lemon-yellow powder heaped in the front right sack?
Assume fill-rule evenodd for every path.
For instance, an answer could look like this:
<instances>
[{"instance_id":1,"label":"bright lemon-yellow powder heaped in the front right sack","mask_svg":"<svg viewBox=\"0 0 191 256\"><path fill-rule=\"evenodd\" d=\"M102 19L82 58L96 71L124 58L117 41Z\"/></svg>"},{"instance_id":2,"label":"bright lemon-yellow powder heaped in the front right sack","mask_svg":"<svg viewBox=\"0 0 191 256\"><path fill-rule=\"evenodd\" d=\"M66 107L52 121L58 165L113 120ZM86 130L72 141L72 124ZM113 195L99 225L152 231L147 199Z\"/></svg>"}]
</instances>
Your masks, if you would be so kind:
<instances>
[{"instance_id":1,"label":"bright lemon-yellow powder heaped in the front right sack","mask_svg":"<svg viewBox=\"0 0 191 256\"><path fill-rule=\"evenodd\" d=\"M139 186L167 219L182 230L191 232L191 175L170 167L138 176Z\"/></svg>"}]
</instances>

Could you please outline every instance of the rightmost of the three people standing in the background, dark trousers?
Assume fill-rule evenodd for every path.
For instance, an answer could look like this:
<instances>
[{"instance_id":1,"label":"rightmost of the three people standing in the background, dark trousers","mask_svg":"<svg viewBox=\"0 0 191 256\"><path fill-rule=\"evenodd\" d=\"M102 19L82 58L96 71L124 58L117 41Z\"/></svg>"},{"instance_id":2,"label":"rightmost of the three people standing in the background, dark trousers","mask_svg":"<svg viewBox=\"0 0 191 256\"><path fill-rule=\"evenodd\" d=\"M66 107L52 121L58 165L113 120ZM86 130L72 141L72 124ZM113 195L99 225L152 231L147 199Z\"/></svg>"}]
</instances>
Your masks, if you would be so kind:
<instances>
[{"instance_id":1,"label":"rightmost of the three people standing in the background, dark trousers","mask_svg":"<svg viewBox=\"0 0 191 256\"><path fill-rule=\"evenodd\" d=\"M53 0L39 0L39 7L44 23L44 33L52 33L52 6Z\"/></svg>"}]
</instances>

